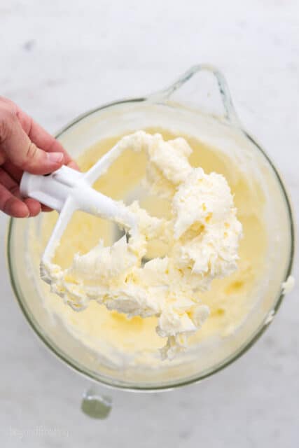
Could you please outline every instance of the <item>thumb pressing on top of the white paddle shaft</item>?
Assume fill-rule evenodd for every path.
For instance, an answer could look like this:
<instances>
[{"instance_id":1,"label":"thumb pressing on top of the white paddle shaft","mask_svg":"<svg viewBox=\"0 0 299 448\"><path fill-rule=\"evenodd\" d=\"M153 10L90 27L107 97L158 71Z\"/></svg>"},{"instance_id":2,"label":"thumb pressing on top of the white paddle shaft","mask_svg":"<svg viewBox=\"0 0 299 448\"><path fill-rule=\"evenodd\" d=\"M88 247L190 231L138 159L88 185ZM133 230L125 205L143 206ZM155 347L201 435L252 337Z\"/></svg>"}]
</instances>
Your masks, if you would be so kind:
<instances>
[{"instance_id":1,"label":"thumb pressing on top of the white paddle shaft","mask_svg":"<svg viewBox=\"0 0 299 448\"><path fill-rule=\"evenodd\" d=\"M38 148L14 113L6 111L0 120L0 150L4 160L32 174L48 174L62 166L63 153L47 153Z\"/></svg>"}]
</instances>

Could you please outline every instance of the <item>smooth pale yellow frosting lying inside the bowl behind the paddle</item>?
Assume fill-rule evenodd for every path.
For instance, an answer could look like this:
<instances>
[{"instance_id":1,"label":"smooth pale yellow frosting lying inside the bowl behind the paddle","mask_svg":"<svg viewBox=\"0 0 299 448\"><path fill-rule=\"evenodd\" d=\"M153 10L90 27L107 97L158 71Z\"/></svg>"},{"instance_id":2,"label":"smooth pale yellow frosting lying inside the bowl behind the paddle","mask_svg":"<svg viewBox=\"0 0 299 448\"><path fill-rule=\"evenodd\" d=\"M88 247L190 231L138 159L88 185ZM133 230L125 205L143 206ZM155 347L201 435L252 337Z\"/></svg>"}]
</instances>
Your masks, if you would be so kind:
<instances>
[{"instance_id":1,"label":"smooth pale yellow frosting lying inside the bowl behind the paddle","mask_svg":"<svg viewBox=\"0 0 299 448\"><path fill-rule=\"evenodd\" d=\"M147 132L160 132L165 140L174 139L178 135L160 129ZM207 174L221 173L228 180L244 236L239 241L237 270L230 276L214 279L211 288L200 293L202 303L207 304L210 309L209 318L200 330L188 338L186 353L178 354L172 360L172 365L185 363L184 356L193 355L197 360L206 362L204 359L209 353L218 353L223 344L235 341L237 332L251 319L251 311L259 300L260 283L265 278L268 260L265 196L260 182L252 174L247 176L235 158L225 155L221 147L208 146L188 135L183 137L193 149L189 158L191 166L202 167ZM120 138L121 136L102 139L87 149L78 158L82 171L90 169ZM113 163L109 172L95 183L94 188L114 200L123 200L126 204L138 199L140 206L148 214L169 221L172 216L169 200L161 199L148 191L144 193L142 179L146 176L146 165L144 152L125 151ZM43 214L37 228L37 221L30 221L32 235L29 258L36 274L39 272L41 253L56 221L56 212ZM99 239L104 241L104 246L111 246L120 236L113 223L78 211L62 236L53 262L62 269L67 269L76 253L88 253L98 244ZM146 258L164 256L166 250L160 241L150 241ZM48 285L43 281L38 281L37 286L43 297L44 307L54 318L53 323L61 321L67 332L74 337L74 346L78 344L78 347L83 346L82 349L93 353L92 356L100 356L105 365L113 365L122 372L131 365L134 368L144 367L146 371L168 365L167 360L162 362L159 358L158 350L165 346L167 338L161 338L155 331L158 325L156 316L128 318L125 314L99 306L95 300L90 301L88 307L78 313L56 294L50 293Z\"/></svg>"}]
</instances>

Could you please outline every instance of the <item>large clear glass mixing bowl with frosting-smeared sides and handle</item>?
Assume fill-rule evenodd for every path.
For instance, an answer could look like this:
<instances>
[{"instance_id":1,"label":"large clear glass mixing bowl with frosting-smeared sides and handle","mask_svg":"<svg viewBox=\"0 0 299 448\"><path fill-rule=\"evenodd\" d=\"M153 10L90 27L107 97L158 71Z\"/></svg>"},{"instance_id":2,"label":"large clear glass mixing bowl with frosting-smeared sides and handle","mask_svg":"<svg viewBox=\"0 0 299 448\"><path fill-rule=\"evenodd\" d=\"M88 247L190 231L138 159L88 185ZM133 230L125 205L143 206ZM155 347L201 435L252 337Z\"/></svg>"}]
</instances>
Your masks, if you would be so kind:
<instances>
[{"instance_id":1,"label":"large clear glass mixing bowl with frosting-smeared sides and handle","mask_svg":"<svg viewBox=\"0 0 299 448\"><path fill-rule=\"evenodd\" d=\"M284 184L277 169L256 141L239 123L225 79L211 66L194 66L166 90L147 97L125 99L100 106L76 118L58 134L73 157L99 139L137 129L163 128L198 137L228 151L253 166L267 190L269 268L258 307L237 335L223 339L214 349L199 349L198 356L183 363L165 363L158 369L130 366L114 368L81 344L60 321L43 307L39 273L28 256L29 221L11 219L8 228L8 267L11 284L27 321L42 341L67 365L102 384L130 390L154 391L183 386L218 372L256 342L283 298L281 282L291 273L294 251L293 218ZM37 228L42 216L32 218ZM38 236L37 236L38 237Z\"/></svg>"}]
</instances>

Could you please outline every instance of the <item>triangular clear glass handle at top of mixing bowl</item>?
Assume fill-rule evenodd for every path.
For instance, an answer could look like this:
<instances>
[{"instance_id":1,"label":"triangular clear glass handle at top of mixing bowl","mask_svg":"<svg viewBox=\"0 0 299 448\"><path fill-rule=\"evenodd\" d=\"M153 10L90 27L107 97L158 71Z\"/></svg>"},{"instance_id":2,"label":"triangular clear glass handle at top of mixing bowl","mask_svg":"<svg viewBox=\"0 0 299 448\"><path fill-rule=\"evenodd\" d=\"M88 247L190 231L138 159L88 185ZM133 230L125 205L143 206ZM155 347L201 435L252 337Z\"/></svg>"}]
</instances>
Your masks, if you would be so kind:
<instances>
[{"instance_id":1,"label":"triangular clear glass handle at top of mixing bowl","mask_svg":"<svg viewBox=\"0 0 299 448\"><path fill-rule=\"evenodd\" d=\"M149 95L148 100L164 104L182 104L240 127L230 90L221 71L209 64L197 64L172 85Z\"/></svg>"}]
</instances>

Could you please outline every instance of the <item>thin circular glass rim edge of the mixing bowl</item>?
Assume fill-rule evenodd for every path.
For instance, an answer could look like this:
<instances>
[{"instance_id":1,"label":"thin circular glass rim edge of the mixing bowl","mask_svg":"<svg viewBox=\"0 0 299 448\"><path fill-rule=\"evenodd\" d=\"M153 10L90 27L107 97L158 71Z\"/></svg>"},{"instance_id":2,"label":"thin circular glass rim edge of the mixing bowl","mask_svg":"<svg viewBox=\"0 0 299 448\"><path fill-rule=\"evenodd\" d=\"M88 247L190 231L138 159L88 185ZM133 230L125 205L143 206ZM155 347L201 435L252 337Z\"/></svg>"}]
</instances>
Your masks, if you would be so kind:
<instances>
[{"instance_id":1,"label":"thin circular glass rim edge of the mixing bowl","mask_svg":"<svg viewBox=\"0 0 299 448\"><path fill-rule=\"evenodd\" d=\"M102 106L99 106L95 109L90 109L89 111L86 111L85 113L82 113L81 115L74 118L74 120L71 120L67 125L62 127L61 130L59 130L55 134L55 138L58 138L64 134L64 132L67 132L71 127L79 123L84 118L88 118L88 116L91 116L93 113L97 113L99 111L102 111L104 109L107 109L109 107L118 106L120 104L127 104L127 103L137 103L137 102L146 102L148 98L147 97L136 97L131 99L121 99L116 102L109 102ZM178 108L182 105L175 104L172 106L171 104L165 104L169 107L175 107ZM215 118L215 117L214 117ZM228 125L232 126L231 123ZM284 182L281 179L281 176L279 175L279 172L277 168L274 166L272 160L267 155L267 153L263 150L263 148L260 146L260 144L257 143L256 139L253 139L251 135L246 132L242 127L239 128L239 130L242 131L244 136L251 141L251 143L258 148L260 153L263 154L265 157L265 160L269 163L270 167L272 168L276 179L279 183L279 187L281 189L282 197L284 198L284 201L286 203L286 209L288 212L288 223L289 223L289 232L291 237L291 244L290 244L290 253L289 253L289 259L288 259L288 266L286 269L286 275L284 281L288 279L288 276L291 275L292 268L293 268L293 260L294 260L294 253L295 253L295 225L294 225L294 218L293 218L293 211L291 208L291 202L288 197L288 193L286 192L286 187L284 186ZM242 346L237 349L234 353L232 353L231 356L226 358L225 360L222 360L220 363L214 365L213 367L209 367L209 369L202 372L202 374L195 374L192 377L181 379L181 380L175 380L175 381L169 381L167 384L141 384L140 386L138 384L130 384L127 381L120 381L111 379L111 381L107 380L106 377L101 377L101 375L97 374L96 372L92 372L92 370L89 370L88 368L80 365L80 363L77 363L76 360L73 360L69 358L59 347L56 346L56 344L53 344L53 342L50 342L50 338L46 337L46 335L43 334L43 331L39 328L38 323L34 322L34 318L32 318L32 315L25 306L25 303L22 300L22 297L20 297L19 290L17 283L18 281L15 279L15 276L13 274L13 259L11 257L11 240L13 235L13 225L16 221L16 218L10 218L8 222L8 232L6 237L6 258L8 262L8 274L11 281L11 286L13 289L13 293L15 295L15 298L20 306L20 309L22 310L22 313L25 315L25 318L27 319L27 322L29 323L30 327L34 331L34 333L41 339L41 341L46 345L46 347L50 350L51 353L53 353L58 359L60 359L63 363L66 363L68 367L70 367L72 370L76 371L77 373L83 375L84 377L87 377L88 379L91 379L92 381L96 381L99 384L102 384L102 386L110 387L110 388L120 388L126 391L143 391L143 392L155 392L155 391L169 391L177 387L181 386L187 386L193 383L198 383L202 381L203 379L206 379L208 377L211 377L211 375L216 374L217 372L223 370L225 367L228 367L228 365L235 362L235 360L239 359L246 351L248 351L253 344L260 338L261 335L263 335L263 332L266 330L266 328L270 325L272 322L272 318L267 319L265 318L265 321L260 324L258 328L256 328L255 332L251 335L251 338L244 342ZM284 298L284 292L281 290L281 293L278 295L276 302L274 303L272 309L270 310L271 316L274 317L274 315L277 313L281 302ZM269 313L268 313L269 316Z\"/></svg>"}]
</instances>

